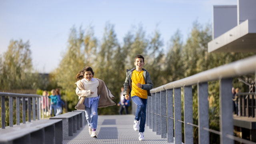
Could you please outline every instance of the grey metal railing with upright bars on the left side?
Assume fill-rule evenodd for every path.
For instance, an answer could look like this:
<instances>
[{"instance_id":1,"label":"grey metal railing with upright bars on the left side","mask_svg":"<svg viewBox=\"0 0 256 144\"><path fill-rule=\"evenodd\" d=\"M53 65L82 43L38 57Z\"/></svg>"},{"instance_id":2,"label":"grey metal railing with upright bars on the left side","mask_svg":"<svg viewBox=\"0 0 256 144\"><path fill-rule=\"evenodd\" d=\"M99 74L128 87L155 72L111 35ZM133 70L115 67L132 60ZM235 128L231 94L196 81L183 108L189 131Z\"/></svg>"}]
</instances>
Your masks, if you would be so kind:
<instances>
[{"instance_id":1,"label":"grey metal railing with upright bars on the left side","mask_svg":"<svg viewBox=\"0 0 256 144\"><path fill-rule=\"evenodd\" d=\"M31 98L32 98L32 118L35 121L41 119L40 99L43 96L36 94L15 94L0 92L1 96L1 126L5 129L5 97L9 97L9 126L13 126L13 98L16 98L16 124L20 125L20 99L22 99L22 123L26 124L26 98L28 122L31 122ZM45 98L45 97L44 97ZM46 108L46 107L45 107ZM46 109L45 109L46 110ZM44 110L43 110L44 111ZM42 115L44 116L44 114Z\"/></svg>"}]
</instances>

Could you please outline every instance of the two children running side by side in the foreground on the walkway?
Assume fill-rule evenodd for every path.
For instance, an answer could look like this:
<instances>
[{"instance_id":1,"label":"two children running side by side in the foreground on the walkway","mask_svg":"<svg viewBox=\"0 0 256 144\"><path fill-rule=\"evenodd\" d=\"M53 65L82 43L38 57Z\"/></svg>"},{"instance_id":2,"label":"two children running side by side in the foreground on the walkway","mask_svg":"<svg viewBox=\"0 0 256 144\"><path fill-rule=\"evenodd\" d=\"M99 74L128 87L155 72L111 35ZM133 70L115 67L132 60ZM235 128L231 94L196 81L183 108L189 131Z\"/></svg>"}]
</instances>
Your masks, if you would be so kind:
<instances>
[{"instance_id":1,"label":"two children running side by side in the foreground on the walkway","mask_svg":"<svg viewBox=\"0 0 256 144\"><path fill-rule=\"evenodd\" d=\"M136 68L126 70L123 90L125 99L130 100L131 97L137 105L133 128L135 131L139 131L139 140L144 140L147 96L151 96L150 90L153 87L148 71L142 68L144 64L144 57L136 55L134 60ZM93 77L94 72L88 66L76 75L76 94L79 96L79 100L75 108L85 111L90 136L97 138L97 108L113 106L116 103L112 101L114 96L112 96L104 82Z\"/></svg>"}]
</instances>

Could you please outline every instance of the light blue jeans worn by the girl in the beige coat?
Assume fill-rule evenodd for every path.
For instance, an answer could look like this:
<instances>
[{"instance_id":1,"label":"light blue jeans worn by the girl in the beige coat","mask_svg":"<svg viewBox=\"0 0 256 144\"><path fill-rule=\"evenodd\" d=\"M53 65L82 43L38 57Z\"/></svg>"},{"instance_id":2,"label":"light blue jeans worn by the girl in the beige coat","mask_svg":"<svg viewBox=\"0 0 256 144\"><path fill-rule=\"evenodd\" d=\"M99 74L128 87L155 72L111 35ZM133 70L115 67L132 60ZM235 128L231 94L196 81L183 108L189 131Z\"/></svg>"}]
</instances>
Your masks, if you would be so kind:
<instances>
[{"instance_id":1,"label":"light blue jeans worn by the girl in the beige coat","mask_svg":"<svg viewBox=\"0 0 256 144\"><path fill-rule=\"evenodd\" d=\"M88 122L89 128L94 128L94 129L97 128L97 124L98 124L98 112L97 112L98 103L99 103L99 100L96 99L92 102L92 105L91 105L90 108L85 107L84 112L85 112L85 117L86 117L86 120Z\"/></svg>"}]
</instances>

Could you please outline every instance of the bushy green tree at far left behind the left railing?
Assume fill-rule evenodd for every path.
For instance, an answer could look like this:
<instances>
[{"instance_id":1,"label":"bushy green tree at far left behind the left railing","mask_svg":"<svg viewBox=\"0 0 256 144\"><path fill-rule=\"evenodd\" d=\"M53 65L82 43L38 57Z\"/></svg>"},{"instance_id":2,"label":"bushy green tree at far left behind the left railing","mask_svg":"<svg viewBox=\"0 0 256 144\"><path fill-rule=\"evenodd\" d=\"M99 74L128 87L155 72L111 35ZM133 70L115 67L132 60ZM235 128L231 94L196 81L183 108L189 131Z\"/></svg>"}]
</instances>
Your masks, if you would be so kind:
<instances>
[{"instance_id":1,"label":"bushy green tree at far left behind the left railing","mask_svg":"<svg viewBox=\"0 0 256 144\"><path fill-rule=\"evenodd\" d=\"M29 41L11 40L0 63L0 89L36 89L38 73L33 73Z\"/></svg>"}]
</instances>

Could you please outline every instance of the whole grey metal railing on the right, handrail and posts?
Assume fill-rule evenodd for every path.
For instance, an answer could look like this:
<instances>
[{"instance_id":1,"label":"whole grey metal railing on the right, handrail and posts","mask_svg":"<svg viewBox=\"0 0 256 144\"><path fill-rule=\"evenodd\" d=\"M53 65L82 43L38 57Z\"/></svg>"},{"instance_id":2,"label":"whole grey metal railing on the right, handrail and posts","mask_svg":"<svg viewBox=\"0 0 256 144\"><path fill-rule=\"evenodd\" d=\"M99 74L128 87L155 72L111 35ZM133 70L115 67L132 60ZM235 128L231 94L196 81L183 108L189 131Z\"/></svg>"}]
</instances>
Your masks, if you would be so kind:
<instances>
[{"instance_id":1,"label":"whole grey metal railing on the right, handrail and posts","mask_svg":"<svg viewBox=\"0 0 256 144\"><path fill-rule=\"evenodd\" d=\"M199 144L210 143L209 132L220 135L220 144L234 144L234 140L244 144L256 144L233 136L232 81L233 77L246 74L256 74L256 56L206 70L150 90L152 97L148 97L147 126L157 135L167 138L168 142L173 142L175 134L175 144L182 143L182 123L184 123L186 144L193 144L193 126L198 127ZM208 82L214 80L219 80L220 132L209 129ZM192 85L197 85L198 91L198 125L193 124L192 118ZM181 121L181 88L184 93L184 121ZM136 106L132 108L135 114Z\"/></svg>"}]
</instances>

